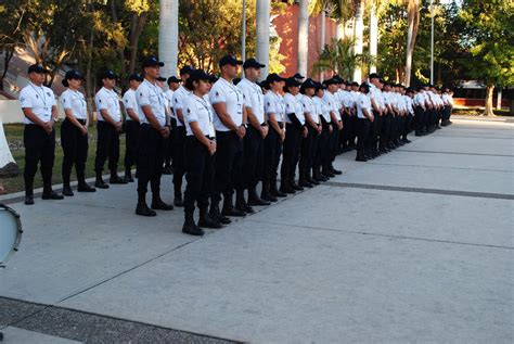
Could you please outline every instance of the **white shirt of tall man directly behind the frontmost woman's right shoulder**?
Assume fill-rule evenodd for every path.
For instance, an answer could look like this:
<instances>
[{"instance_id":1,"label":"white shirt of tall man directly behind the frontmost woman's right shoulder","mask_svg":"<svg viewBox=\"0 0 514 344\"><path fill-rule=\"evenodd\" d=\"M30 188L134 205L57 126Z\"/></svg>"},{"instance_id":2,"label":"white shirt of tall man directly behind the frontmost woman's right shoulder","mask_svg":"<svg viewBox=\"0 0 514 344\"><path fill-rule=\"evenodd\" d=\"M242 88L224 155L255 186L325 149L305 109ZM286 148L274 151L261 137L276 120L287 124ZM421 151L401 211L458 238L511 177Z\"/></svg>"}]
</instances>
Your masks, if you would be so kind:
<instances>
[{"instance_id":1,"label":"white shirt of tall man directly behind the frontmost woman's right shoulder","mask_svg":"<svg viewBox=\"0 0 514 344\"><path fill-rule=\"evenodd\" d=\"M223 78L219 78L210 89L209 99L213 105L217 103L226 103L227 113L230 115L233 123L236 126L243 124L244 94L234 84L229 82ZM230 131L216 113L214 125L218 131Z\"/></svg>"}]
</instances>

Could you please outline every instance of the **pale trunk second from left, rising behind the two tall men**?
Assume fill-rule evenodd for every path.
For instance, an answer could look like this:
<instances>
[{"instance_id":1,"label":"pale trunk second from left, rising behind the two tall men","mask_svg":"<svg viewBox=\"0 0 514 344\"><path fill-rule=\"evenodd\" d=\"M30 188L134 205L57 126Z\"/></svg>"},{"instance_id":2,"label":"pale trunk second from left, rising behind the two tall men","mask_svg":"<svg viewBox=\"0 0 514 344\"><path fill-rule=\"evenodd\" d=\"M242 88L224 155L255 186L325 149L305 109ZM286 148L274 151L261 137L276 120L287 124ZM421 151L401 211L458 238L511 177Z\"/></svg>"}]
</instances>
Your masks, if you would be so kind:
<instances>
[{"instance_id":1,"label":"pale trunk second from left, rising behind the two tall men","mask_svg":"<svg viewBox=\"0 0 514 344\"><path fill-rule=\"evenodd\" d=\"M256 58L266 66L260 72L260 79L266 79L270 64L270 0L259 0L256 3Z\"/></svg>"}]
</instances>

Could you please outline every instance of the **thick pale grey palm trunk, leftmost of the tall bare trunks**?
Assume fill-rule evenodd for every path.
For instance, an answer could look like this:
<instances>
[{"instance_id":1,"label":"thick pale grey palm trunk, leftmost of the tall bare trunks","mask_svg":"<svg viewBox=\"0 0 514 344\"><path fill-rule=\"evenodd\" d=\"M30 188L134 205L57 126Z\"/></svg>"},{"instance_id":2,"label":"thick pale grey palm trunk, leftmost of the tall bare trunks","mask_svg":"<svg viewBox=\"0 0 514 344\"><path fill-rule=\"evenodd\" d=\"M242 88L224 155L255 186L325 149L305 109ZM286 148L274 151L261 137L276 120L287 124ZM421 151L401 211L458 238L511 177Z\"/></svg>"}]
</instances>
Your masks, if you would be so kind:
<instances>
[{"instance_id":1,"label":"thick pale grey palm trunk, leftmost of the tall bare trunks","mask_svg":"<svg viewBox=\"0 0 514 344\"><path fill-rule=\"evenodd\" d=\"M179 49L179 0L159 1L158 54L164 62L163 76L177 74Z\"/></svg>"}]
</instances>

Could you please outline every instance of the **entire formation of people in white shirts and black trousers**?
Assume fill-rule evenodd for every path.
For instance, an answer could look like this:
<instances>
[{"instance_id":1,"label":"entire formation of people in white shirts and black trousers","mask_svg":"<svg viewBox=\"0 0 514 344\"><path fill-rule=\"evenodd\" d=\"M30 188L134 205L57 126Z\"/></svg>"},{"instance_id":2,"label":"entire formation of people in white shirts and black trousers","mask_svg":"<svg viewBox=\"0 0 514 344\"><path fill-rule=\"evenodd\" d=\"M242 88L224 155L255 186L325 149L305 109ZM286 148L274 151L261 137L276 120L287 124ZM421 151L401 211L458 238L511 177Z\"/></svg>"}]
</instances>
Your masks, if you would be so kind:
<instances>
[{"instance_id":1,"label":"entire formation of people in white shirts and black trousers","mask_svg":"<svg viewBox=\"0 0 514 344\"><path fill-rule=\"evenodd\" d=\"M245 78L234 85L240 65ZM111 183L133 181L130 170L136 164L136 213L155 216L154 209L170 211L174 207L163 202L159 189L163 165L167 160L169 166L172 156L174 203L184 205L183 231L190 234L203 234L201 227L219 228L230 222L230 216L253 213L252 206L268 205L287 193L340 174L333 162L342 151L354 148L356 139L356 160L367 161L409 142L407 135L413 117L416 135L435 130L439 122L451 123L451 95L447 91L441 95L432 87L406 90L377 75L370 75L370 84L360 87L337 76L320 84L312 79L301 82L300 75L284 79L277 74L258 84L262 64L255 59L243 64L227 55L219 63L221 75L213 86L211 76L188 66L180 71L181 80L168 79L169 90L165 92L159 76L162 66L157 59L149 58L143 62L143 77L129 77L130 89L123 98L125 126L113 90L117 77L113 72L102 75L103 87L95 95L99 111L95 186L108 188L102 179L105 161L108 160ZM51 190L56 107L52 91L42 86L43 73L41 66L31 66L31 82L21 94L27 124L27 204L34 203L31 184L39 161L43 199L62 199ZM77 170L78 191L95 191L85 182L89 119L85 98L78 91L81 79L78 72L68 72L63 81L68 89L61 97L66 114L62 126L65 195L73 195L69 188L73 165ZM124 128L126 175L119 178L116 170ZM184 174L188 184L182 199ZM256 186L260 180L262 191L258 195ZM149 183L150 207L146 205ZM200 208L198 226L193 220L195 203Z\"/></svg>"}]
</instances>

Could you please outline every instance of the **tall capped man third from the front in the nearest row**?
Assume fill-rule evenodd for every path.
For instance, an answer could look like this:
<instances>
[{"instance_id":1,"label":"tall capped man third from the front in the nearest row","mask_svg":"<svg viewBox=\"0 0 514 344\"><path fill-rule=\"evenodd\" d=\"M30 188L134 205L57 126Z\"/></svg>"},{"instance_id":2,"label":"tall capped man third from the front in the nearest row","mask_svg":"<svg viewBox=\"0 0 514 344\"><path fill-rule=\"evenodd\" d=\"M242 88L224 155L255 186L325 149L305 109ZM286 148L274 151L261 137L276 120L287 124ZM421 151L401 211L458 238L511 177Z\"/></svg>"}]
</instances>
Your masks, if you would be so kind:
<instances>
[{"instance_id":1,"label":"tall capped man third from the front in the nearest row","mask_svg":"<svg viewBox=\"0 0 514 344\"><path fill-rule=\"evenodd\" d=\"M248 190L247 213L253 213L253 205L270 205L270 201L262 200L256 190L257 183L262 179L264 142L269 132L265 118L265 95L260 85L257 84L260 68L264 67L265 65L255 59L246 60L243 63L245 78L237 84L237 88L243 92L248 122L243 157L243 174Z\"/></svg>"}]
</instances>

